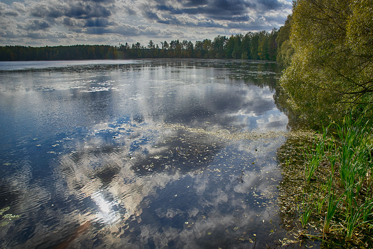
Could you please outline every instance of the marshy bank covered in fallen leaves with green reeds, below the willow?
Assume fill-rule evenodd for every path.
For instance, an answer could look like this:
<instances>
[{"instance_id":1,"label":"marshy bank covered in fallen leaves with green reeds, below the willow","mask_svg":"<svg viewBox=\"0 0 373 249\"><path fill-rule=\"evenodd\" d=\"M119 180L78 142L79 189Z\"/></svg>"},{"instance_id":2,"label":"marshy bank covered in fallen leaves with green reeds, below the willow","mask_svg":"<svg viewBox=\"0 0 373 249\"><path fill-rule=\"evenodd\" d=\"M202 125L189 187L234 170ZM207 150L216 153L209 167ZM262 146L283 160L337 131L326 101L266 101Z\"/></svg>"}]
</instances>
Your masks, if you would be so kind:
<instances>
[{"instance_id":1,"label":"marshy bank covered in fallen leaves with green reeds, below the willow","mask_svg":"<svg viewBox=\"0 0 373 249\"><path fill-rule=\"evenodd\" d=\"M362 118L291 131L277 156L283 245L372 248L372 128Z\"/></svg>"}]
</instances>

